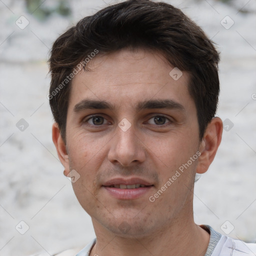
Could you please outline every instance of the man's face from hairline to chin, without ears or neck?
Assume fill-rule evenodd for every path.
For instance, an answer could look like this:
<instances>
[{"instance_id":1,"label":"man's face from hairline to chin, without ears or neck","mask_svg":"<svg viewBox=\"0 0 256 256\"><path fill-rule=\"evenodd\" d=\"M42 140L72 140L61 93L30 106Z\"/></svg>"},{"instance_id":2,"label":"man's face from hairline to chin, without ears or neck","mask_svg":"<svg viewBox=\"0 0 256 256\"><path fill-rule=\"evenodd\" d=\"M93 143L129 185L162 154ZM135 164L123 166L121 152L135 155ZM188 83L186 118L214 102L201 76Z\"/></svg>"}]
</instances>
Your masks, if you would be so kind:
<instances>
[{"instance_id":1,"label":"man's face from hairline to chin, without ears or neck","mask_svg":"<svg viewBox=\"0 0 256 256\"><path fill-rule=\"evenodd\" d=\"M62 160L81 206L119 235L187 221L202 146L188 73L174 80L163 56L142 49L89 68L72 80Z\"/></svg>"}]
</instances>

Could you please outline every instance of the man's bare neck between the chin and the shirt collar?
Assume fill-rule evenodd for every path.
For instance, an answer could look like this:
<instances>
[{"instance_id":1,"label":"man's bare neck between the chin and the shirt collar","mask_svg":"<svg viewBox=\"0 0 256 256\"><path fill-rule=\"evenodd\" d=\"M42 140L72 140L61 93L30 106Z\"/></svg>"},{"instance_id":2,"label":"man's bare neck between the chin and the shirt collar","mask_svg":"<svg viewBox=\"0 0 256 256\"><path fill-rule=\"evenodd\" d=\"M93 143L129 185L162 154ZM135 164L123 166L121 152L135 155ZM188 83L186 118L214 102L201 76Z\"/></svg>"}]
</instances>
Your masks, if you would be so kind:
<instances>
[{"instance_id":1,"label":"man's bare neck between the chin and the shirt collar","mask_svg":"<svg viewBox=\"0 0 256 256\"><path fill-rule=\"evenodd\" d=\"M192 221L174 221L164 229L143 237L124 237L112 233L95 220L92 221L97 237L91 255L99 256L204 256L208 243L207 231Z\"/></svg>"}]
</instances>

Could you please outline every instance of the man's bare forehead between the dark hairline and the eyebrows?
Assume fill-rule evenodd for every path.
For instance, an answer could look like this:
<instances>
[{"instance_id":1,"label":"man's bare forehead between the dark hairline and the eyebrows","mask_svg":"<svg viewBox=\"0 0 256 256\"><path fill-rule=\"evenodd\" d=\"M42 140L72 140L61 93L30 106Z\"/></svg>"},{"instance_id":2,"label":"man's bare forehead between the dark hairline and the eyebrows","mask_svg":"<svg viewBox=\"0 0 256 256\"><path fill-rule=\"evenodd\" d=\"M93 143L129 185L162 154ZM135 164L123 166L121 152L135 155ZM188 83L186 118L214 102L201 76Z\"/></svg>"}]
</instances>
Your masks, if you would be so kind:
<instances>
[{"instance_id":1,"label":"man's bare forehead between the dark hairline and the eyebrows","mask_svg":"<svg viewBox=\"0 0 256 256\"><path fill-rule=\"evenodd\" d=\"M84 98L108 101L116 108L135 106L142 99L169 98L185 108L193 104L188 73L178 71L160 53L122 49L96 55L88 67L90 71L82 70L72 80L68 108Z\"/></svg>"}]
</instances>

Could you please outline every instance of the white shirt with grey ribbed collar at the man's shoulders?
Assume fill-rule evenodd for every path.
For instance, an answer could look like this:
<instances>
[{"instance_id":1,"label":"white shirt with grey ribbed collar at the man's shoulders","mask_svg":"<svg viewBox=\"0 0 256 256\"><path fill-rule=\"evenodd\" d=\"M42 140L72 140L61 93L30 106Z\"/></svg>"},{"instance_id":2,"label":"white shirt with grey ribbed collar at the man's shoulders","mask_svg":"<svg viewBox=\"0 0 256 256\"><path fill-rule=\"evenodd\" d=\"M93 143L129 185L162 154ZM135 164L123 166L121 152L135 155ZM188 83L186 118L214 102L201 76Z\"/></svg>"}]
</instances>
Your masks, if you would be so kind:
<instances>
[{"instance_id":1,"label":"white shirt with grey ribbed collar at the man's shoulders","mask_svg":"<svg viewBox=\"0 0 256 256\"><path fill-rule=\"evenodd\" d=\"M210 233L210 240L204 256L256 256L256 243L246 243L241 240L232 239L215 231L209 225L200 225ZM89 256L96 243L94 238L76 256Z\"/></svg>"}]
</instances>

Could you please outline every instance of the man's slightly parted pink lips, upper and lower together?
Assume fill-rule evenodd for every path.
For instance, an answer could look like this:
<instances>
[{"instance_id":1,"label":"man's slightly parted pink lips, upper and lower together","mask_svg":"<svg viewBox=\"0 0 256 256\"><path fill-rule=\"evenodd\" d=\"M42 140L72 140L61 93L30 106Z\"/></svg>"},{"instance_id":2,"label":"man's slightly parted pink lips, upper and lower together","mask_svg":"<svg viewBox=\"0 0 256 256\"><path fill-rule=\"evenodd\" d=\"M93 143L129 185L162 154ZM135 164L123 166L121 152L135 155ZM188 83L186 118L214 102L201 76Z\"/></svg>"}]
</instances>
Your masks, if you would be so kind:
<instances>
[{"instance_id":1,"label":"man's slightly parted pink lips, upper and lower together","mask_svg":"<svg viewBox=\"0 0 256 256\"><path fill-rule=\"evenodd\" d=\"M110 187L115 184L133 185L133 184L143 184L145 187L137 188L116 188ZM108 194L116 199L136 199L145 195L151 188L153 184L144 179L133 177L133 178L113 178L110 179L102 185Z\"/></svg>"}]
</instances>

